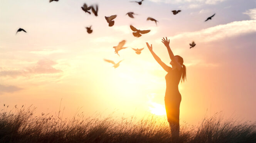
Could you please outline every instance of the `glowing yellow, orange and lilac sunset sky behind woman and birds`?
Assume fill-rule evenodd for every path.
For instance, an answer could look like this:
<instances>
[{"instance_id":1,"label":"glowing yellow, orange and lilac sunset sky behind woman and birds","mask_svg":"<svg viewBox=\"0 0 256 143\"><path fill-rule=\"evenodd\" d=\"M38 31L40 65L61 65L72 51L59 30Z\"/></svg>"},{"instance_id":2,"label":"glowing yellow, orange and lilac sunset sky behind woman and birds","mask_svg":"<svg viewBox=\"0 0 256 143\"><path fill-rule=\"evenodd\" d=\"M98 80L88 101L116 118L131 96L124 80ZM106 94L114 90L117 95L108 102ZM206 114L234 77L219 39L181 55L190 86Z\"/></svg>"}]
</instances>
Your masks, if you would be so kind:
<instances>
[{"instance_id":1,"label":"glowing yellow, orange and lilac sunset sky behind woman and birds","mask_svg":"<svg viewBox=\"0 0 256 143\"><path fill-rule=\"evenodd\" d=\"M84 13L84 3L98 4L98 17ZM109 27L104 16L111 15L117 17ZM151 31L136 38L130 24ZM15 35L19 28L27 33ZM0 0L0 108L165 118L167 73L145 44L170 65L162 37L187 67L179 84L181 121L195 124L216 112L256 121L256 0ZM113 46L122 40L128 48L119 57ZM131 48L144 49L138 55ZM115 69L104 58L123 61Z\"/></svg>"}]
</instances>

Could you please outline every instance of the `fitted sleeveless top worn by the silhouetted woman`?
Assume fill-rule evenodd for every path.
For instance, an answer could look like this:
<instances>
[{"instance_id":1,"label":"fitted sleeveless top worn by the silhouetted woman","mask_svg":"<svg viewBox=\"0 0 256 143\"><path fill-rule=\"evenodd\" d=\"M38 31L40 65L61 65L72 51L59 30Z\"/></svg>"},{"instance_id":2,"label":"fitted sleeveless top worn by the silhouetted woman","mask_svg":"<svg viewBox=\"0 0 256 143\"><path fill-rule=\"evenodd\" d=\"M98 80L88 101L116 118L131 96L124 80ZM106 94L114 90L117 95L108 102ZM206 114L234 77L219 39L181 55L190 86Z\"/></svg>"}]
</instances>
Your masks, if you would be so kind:
<instances>
[{"instance_id":1,"label":"fitted sleeveless top worn by the silhouetted woman","mask_svg":"<svg viewBox=\"0 0 256 143\"><path fill-rule=\"evenodd\" d=\"M181 95L179 92L179 83L182 76L182 69L180 71L176 68L170 70L166 76L166 90L165 90L165 99L170 100L181 100Z\"/></svg>"}]
</instances>

